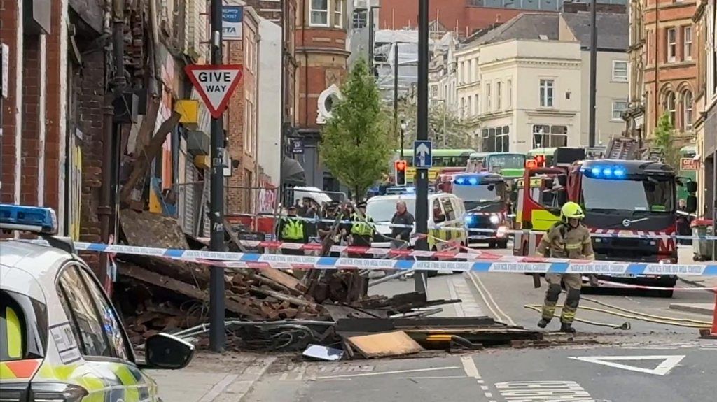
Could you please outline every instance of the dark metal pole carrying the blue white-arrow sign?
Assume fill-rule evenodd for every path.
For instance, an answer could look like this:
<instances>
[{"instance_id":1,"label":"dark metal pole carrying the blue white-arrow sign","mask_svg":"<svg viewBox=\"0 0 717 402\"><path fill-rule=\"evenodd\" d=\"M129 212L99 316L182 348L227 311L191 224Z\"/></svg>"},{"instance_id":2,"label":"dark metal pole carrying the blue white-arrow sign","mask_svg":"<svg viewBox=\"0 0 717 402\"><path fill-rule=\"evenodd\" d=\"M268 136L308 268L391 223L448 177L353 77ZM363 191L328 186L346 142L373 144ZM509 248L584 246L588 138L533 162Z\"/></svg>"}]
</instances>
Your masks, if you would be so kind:
<instances>
[{"instance_id":1,"label":"dark metal pole carrying the blue white-arrow sign","mask_svg":"<svg viewBox=\"0 0 717 402\"><path fill-rule=\"evenodd\" d=\"M428 0L418 4L418 99L416 139L428 139ZM428 170L416 170L416 232L428 234ZM426 237L416 241L416 250L428 250ZM426 293L427 272L414 275L415 290Z\"/></svg>"}]
</instances>

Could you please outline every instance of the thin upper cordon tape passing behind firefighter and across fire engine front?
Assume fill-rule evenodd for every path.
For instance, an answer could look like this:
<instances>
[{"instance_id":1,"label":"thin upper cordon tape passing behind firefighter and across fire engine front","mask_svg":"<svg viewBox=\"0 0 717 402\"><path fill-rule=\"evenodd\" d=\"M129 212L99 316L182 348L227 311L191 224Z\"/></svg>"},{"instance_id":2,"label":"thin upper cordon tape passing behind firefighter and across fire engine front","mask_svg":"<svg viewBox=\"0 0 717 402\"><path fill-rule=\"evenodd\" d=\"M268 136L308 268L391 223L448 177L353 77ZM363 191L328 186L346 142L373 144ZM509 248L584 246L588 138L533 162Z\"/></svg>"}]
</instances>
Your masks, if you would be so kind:
<instances>
[{"instance_id":1,"label":"thin upper cordon tape passing behind firefighter and across fire engine front","mask_svg":"<svg viewBox=\"0 0 717 402\"><path fill-rule=\"evenodd\" d=\"M257 215L257 216L266 216L270 217L271 215ZM287 216L280 216L276 219L282 219L287 218ZM304 222L309 223L336 223L336 220L331 219L320 219L320 218L313 218L313 217L292 217L292 219L298 219L303 220ZM361 220L339 220L338 223L340 224L353 224L353 223L366 223ZM412 225L399 225L389 222L369 222L372 225L380 225L385 227L399 227L399 228L408 228L413 227ZM622 222L621 222L622 225ZM429 230L440 230L440 229L450 229L451 227L447 226L436 226L436 225L429 225ZM500 229L490 229L490 228L484 228L484 227L468 227L466 228L468 232L479 232L479 233L498 233L500 232L501 235L528 235L531 233L541 233L544 234L545 231L541 230L518 230L518 229L508 229L507 227L503 227ZM611 238L632 238L632 239L643 239L643 240L655 240L655 239L674 239L674 240L717 240L716 236L708 236L708 235L675 235L675 234L668 234L668 233L660 233L659 230L630 230L627 228L623 229L590 229L590 237L611 237ZM474 237L476 239L478 238L485 238L485 237Z\"/></svg>"}]
</instances>

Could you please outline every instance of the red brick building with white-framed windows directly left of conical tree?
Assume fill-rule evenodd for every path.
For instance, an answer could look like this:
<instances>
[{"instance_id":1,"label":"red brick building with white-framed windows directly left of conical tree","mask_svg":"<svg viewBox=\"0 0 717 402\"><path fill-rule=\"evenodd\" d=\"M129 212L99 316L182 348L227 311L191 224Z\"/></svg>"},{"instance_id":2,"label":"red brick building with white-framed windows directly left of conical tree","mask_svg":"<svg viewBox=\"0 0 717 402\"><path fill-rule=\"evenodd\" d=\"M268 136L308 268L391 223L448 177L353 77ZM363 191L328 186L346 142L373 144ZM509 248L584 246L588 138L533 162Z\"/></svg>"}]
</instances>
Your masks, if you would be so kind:
<instances>
[{"instance_id":1,"label":"red brick building with white-framed windows directly left of conical tree","mask_svg":"<svg viewBox=\"0 0 717 402\"><path fill-rule=\"evenodd\" d=\"M346 0L300 0L298 7L295 117L304 153L295 157L305 169L307 184L322 188L324 181L331 179L325 179L327 174L318 161L316 144L322 122L319 102L327 89L341 86L346 74L346 60L350 54L346 50L349 19Z\"/></svg>"}]
</instances>

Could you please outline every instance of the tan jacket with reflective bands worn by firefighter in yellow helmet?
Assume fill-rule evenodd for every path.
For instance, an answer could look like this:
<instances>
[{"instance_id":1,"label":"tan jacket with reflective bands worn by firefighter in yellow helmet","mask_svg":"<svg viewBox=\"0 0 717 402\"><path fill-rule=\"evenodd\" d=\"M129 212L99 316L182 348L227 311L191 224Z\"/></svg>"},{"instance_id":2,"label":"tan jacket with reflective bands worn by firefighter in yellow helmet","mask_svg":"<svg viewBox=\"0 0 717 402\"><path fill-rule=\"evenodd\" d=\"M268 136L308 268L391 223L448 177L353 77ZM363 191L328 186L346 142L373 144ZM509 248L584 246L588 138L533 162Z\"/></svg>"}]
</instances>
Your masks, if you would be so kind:
<instances>
[{"instance_id":1,"label":"tan jacket with reflective bands worn by firefighter in yellow helmet","mask_svg":"<svg viewBox=\"0 0 717 402\"><path fill-rule=\"evenodd\" d=\"M582 224L570 227L562 222L556 222L538 244L538 255L551 258L572 258L575 260L594 260L595 252L592 249L590 231Z\"/></svg>"}]
</instances>

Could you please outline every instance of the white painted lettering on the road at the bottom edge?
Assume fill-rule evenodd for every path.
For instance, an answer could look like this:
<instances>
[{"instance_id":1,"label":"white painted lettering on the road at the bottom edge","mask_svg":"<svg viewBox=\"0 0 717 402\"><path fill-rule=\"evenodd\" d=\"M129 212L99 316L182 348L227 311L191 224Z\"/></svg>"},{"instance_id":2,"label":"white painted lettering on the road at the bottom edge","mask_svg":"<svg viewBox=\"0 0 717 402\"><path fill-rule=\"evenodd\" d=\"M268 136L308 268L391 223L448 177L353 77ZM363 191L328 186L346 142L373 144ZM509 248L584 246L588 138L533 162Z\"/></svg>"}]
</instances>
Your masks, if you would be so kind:
<instances>
[{"instance_id":1,"label":"white painted lettering on the road at the bottom edge","mask_svg":"<svg viewBox=\"0 0 717 402\"><path fill-rule=\"evenodd\" d=\"M510 381L495 388L508 401L595 401L575 381Z\"/></svg>"}]
</instances>

